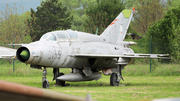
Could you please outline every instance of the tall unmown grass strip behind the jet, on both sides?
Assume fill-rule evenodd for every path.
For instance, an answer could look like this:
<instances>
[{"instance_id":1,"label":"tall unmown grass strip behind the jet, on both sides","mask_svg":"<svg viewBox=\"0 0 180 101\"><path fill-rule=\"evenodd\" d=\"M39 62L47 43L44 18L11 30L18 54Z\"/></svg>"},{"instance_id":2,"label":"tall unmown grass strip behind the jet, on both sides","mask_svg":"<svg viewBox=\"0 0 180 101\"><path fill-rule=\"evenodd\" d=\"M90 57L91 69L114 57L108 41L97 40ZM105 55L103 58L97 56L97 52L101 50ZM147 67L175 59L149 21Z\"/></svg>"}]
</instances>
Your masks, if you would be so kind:
<instances>
[{"instance_id":1,"label":"tall unmown grass strip behind the jet, on both sides","mask_svg":"<svg viewBox=\"0 0 180 101\"><path fill-rule=\"evenodd\" d=\"M13 64L0 60L0 76L41 76L42 70L32 69L30 65L15 62L15 72L13 72ZM52 68L48 68L48 75L53 75ZM61 72L67 74L71 69L60 69ZM150 72L149 64L136 63L125 67L122 70L123 76L180 76L180 64L152 64Z\"/></svg>"}]
</instances>

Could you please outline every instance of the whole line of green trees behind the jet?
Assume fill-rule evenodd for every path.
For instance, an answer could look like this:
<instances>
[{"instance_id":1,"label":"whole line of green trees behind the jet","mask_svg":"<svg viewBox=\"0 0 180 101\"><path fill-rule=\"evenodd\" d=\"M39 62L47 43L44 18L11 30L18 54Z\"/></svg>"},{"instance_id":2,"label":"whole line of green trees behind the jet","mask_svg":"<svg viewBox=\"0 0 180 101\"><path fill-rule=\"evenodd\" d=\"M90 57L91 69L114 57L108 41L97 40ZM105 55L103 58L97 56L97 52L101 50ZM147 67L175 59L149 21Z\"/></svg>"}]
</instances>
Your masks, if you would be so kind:
<instances>
[{"instance_id":1,"label":"whole line of green trees behind the jet","mask_svg":"<svg viewBox=\"0 0 180 101\"><path fill-rule=\"evenodd\" d=\"M37 41L50 31L72 29L100 35L124 9L137 13L128 33L141 37L132 46L135 52L170 54L178 61L179 0L43 0L37 10L8 5L0 16L0 44ZM126 37L126 40L132 40Z\"/></svg>"}]
</instances>

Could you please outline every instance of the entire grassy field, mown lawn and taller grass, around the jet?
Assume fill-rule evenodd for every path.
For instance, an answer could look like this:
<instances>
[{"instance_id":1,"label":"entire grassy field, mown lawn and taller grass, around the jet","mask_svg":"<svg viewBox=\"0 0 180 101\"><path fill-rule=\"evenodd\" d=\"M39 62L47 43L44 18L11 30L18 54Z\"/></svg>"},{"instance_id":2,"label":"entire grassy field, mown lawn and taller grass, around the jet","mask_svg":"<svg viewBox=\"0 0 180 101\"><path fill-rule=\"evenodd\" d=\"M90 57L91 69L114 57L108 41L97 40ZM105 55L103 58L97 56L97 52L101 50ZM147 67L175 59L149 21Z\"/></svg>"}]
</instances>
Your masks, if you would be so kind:
<instances>
[{"instance_id":1,"label":"entire grassy field, mown lawn and taller grass, around the jet","mask_svg":"<svg viewBox=\"0 0 180 101\"><path fill-rule=\"evenodd\" d=\"M42 88L42 70L31 69L29 65L16 63L15 72L12 64L0 61L0 80ZM70 69L61 69L65 74ZM52 69L48 69L47 78L51 91L85 97L90 93L92 99L99 101L143 100L168 97L180 97L180 65L156 64L149 72L149 64L129 65L123 70L125 81L120 86L112 87L110 76L102 75L98 81L68 82L70 86L55 86L52 81Z\"/></svg>"}]
</instances>

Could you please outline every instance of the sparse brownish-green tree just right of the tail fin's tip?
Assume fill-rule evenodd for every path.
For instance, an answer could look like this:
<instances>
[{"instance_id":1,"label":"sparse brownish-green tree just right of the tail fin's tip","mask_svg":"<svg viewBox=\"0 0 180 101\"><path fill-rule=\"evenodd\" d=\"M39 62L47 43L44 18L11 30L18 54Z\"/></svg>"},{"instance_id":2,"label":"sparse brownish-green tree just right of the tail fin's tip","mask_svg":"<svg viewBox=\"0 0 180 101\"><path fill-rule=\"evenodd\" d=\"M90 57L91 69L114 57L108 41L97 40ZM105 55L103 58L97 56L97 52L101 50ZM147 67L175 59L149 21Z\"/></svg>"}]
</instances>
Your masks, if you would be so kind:
<instances>
[{"instance_id":1,"label":"sparse brownish-green tree just right of the tail fin's tip","mask_svg":"<svg viewBox=\"0 0 180 101\"><path fill-rule=\"evenodd\" d=\"M136 11L133 29L142 35L146 35L147 29L154 22L163 18L166 14L166 2L163 0L141 0L135 5Z\"/></svg>"}]
</instances>

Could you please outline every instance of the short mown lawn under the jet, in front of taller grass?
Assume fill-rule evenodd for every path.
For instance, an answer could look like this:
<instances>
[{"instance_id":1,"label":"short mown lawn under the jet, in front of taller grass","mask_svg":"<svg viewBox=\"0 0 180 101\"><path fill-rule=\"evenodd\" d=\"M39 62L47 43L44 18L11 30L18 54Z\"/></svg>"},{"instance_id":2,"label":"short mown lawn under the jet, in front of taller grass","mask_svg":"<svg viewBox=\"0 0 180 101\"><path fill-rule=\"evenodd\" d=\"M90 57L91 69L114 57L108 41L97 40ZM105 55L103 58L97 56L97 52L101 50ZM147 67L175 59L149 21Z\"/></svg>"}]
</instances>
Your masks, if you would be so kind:
<instances>
[{"instance_id":1,"label":"short mown lawn under the jet, in front of taller grass","mask_svg":"<svg viewBox=\"0 0 180 101\"><path fill-rule=\"evenodd\" d=\"M71 82L68 87L54 85L52 76L47 76L51 91L85 97L90 93L92 99L99 101L123 101L180 97L179 76L124 76L120 86L112 87L109 76L103 76L98 81ZM23 85L41 87L41 76L38 77L5 77L1 80L15 82Z\"/></svg>"}]
</instances>

